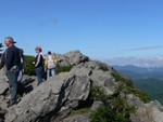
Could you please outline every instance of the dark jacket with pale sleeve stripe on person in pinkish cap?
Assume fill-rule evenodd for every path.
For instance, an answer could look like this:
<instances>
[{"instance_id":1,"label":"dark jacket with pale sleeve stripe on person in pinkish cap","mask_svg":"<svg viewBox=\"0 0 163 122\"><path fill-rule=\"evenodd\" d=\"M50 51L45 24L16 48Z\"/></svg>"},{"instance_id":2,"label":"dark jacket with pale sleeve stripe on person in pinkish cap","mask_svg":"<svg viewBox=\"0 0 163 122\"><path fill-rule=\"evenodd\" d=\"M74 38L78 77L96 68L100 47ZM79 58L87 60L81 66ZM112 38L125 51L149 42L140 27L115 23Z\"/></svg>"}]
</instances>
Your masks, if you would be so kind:
<instances>
[{"instance_id":1,"label":"dark jacket with pale sleeve stripe on person in pinkish cap","mask_svg":"<svg viewBox=\"0 0 163 122\"><path fill-rule=\"evenodd\" d=\"M43 56L40 53L35 58L35 68L38 67L43 67Z\"/></svg>"}]
</instances>

